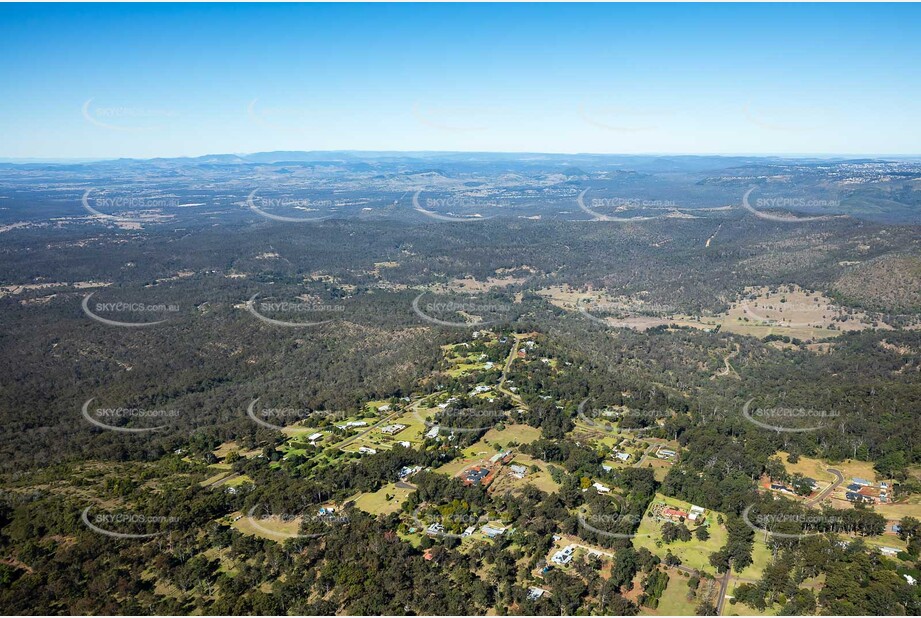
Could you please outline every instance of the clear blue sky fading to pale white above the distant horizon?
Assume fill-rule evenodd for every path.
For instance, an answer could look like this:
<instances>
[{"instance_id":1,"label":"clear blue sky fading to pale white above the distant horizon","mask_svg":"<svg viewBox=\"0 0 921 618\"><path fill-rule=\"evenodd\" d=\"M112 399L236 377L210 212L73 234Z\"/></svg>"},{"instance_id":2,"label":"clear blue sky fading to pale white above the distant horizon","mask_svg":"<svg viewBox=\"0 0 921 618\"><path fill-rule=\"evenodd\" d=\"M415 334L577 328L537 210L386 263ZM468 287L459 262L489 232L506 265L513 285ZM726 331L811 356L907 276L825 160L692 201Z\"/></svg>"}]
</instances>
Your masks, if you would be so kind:
<instances>
[{"instance_id":1,"label":"clear blue sky fading to pale white above the distant horizon","mask_svg":"<svg viewBox=\"0 0 921 618\"><path fill-rule=\"evenodd\" d=\"M0 5L0 157L921 153L917 5Z\"/></svg>"}]
</instances>

